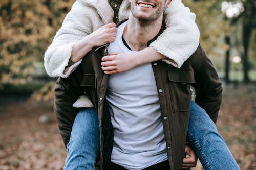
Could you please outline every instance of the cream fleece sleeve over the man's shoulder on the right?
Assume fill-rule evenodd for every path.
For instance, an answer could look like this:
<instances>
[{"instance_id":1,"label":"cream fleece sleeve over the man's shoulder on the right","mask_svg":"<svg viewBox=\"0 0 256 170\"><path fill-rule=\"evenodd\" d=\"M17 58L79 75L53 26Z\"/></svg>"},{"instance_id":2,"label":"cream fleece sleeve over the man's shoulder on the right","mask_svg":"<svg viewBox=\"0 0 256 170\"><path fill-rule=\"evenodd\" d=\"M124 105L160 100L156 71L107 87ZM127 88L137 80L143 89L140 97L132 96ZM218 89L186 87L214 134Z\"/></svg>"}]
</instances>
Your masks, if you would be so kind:
<instances>
[{"instance_id":1,"label":"cream fleece sleeve over the man's shoulder on the right","mask_svg":"<svg viewBox=\"0 0 256 170\"><path fill-rule=\"evenodd\" d=\"M196 15L181 0L172 1L165 13L166 29L150 46L169 58L163 61L180 68L199 45Z\"/></svg>"}]
</instances>

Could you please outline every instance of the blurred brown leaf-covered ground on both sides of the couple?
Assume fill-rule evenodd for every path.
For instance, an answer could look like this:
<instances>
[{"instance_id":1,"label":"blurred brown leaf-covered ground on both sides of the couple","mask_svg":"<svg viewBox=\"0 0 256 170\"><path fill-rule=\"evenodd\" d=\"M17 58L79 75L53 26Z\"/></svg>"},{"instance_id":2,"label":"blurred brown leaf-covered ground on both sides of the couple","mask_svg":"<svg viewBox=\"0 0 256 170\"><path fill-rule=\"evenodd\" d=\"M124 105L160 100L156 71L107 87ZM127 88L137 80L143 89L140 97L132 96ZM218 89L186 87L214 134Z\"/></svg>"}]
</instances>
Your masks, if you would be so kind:
<instances>
[{"instance_id":1,"label":"blurred brown leaf-covered ground on both sides of the couple","mask_svg":"<svg viewBox=\"0 0 256 170\"><path fill-rule=\"evenodd\" d=\"M62 169L67 153L52 108L34 100L0 104L0 170ZM217 127L240 168L256 169L256 87L225 88Z\"/></svg>"}]
</instances>

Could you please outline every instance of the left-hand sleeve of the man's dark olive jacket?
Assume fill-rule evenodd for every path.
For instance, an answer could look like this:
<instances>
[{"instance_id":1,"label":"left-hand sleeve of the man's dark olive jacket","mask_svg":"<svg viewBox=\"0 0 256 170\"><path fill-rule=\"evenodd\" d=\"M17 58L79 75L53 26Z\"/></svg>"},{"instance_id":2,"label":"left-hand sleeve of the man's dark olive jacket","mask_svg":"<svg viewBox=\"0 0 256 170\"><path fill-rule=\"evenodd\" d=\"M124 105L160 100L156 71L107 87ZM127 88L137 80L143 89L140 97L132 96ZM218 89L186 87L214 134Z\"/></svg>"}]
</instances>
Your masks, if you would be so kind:
<instances>
[{"instance_id":1,"label":"left-hand sleeve of the man's dark olive jacket","mask_svg":"<svg viewBox=\"0 0 256 170\"><path fill-rule=\"evenodd\" d=\"M54 87L54 113L62 140L67 147L72 126L78 112L73 103L84 93L80 83L81 67L78 67L68 78L59 77Z\"/></svg>"}]
</instances>

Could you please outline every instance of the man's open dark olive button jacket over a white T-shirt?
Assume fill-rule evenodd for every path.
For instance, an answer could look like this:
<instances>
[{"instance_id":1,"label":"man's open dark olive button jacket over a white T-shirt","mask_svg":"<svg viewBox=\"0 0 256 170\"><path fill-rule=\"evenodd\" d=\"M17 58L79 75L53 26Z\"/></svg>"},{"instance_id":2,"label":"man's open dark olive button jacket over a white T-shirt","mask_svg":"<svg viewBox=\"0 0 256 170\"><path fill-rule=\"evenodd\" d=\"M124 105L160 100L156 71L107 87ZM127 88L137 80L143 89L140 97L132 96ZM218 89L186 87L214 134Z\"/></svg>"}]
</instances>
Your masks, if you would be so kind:
<instances>
[{"instance_id":1,"label":"man's open dark olive button jacket over a white T-shirt","mask_svg":"<svg viewBox=\"0 0 256 170\"><path fill-rule=\"evenodd\" d=\"M77 113L72 104L84 91L89 95L99 117L101 169L108 167L113 147L113 129L108 102L105 100L110 76L103 73L100 65L101 57L106 54L106 48L97 51L94 48L68 78L57 80L54 98L57 123L67 145ZM180 69L163 61L152 63L152 67L170 169L181 169L188 130L190 86L196 91L195 102L216 122L222 99L221 81L201 46Z\"/></svg>"}]
</instances>

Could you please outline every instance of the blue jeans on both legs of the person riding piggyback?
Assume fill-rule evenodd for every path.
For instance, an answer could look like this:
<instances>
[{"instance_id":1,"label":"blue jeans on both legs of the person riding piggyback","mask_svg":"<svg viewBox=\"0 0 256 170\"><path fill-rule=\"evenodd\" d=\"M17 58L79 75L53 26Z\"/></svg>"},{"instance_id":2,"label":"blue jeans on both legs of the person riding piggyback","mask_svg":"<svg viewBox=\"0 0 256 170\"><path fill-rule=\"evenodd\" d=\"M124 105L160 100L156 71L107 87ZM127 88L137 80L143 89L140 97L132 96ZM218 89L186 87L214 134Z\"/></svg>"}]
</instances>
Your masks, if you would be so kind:
<instances>
[{"instance_id":1,"label":"blue jeans on both legs of the person riding piggyback","mask_svg":"<svg viewBox=\"0 0 256 170\"><path fill-rule=\"evenodd\" d=\"M240 169L208 114L191 102L188 138L205 170ZM94 169L100 147L95 109L81 109L72 127L64 169Z\"/></svg>"}]
</instances>

